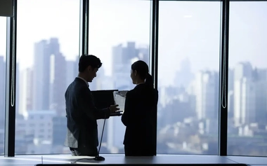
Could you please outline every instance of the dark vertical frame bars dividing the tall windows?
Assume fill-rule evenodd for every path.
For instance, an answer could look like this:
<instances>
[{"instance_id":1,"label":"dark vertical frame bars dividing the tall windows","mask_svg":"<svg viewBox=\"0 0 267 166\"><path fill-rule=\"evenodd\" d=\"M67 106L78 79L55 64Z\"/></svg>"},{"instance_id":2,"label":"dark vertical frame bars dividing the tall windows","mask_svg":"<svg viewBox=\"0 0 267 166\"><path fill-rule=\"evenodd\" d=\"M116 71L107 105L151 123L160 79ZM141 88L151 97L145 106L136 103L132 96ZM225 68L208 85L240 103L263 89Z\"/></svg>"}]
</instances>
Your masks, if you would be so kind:
<instances>
[{"instance_id":1,"label":"dark vertical frame bars dividing the tall windows","mask_svg":"<svg viewBox=\"0 0 267 166\"><path fill-rule=\"evenodd\" d=\"M6 47L6 122L5 122L5 151L7 157L15 156L15 96L16 96L16 43L17 43L17 1L13 0L13 15L7 18L7 47ZM157 89L158 74L158 28L159 1L152 1L150 11L150 69ZM176 0L169 0L176 1ZM193 0L183 0L193 1ZM195 0L220 1L220 0ZM252 1L252 0L233 0ZM267 0L256 0L267 1ZM221 0L221 46L220 46L220 78L219 78L219 151L218 155L227 155L228 130L228 45L229 45L229 4L230 0ZM89 53L89 0L80 0L80 39L79 55ZM157 126L157 122L155 124ZM155 139L157 136L155 135ZM155 144L155 146L157 146ZM155 155L157 152L155 151Z\"/></svg>"}]
</instances>

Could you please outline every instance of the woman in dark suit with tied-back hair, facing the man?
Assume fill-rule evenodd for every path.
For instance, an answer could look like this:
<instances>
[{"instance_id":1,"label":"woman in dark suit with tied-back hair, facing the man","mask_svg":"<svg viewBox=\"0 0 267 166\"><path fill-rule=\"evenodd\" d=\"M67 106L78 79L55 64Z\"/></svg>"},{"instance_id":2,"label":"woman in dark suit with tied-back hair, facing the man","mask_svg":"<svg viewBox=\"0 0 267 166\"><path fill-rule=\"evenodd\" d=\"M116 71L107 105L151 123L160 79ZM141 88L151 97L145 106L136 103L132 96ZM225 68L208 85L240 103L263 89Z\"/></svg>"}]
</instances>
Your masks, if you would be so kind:
<instances>
[{"instance_id":1,"label":"woman in dark suit with tied-back hair, facing the man","mask_svg":"<svg viewBox=\"0 0 267 166\"><path fill-rule=\"evenodd\" d=\"M131 65L131 80L136 87L126 94L122 123L126 126L126 156L156 155L158 91L153 86L148 64L139 60Z\"/></svg>"}]
</instances>

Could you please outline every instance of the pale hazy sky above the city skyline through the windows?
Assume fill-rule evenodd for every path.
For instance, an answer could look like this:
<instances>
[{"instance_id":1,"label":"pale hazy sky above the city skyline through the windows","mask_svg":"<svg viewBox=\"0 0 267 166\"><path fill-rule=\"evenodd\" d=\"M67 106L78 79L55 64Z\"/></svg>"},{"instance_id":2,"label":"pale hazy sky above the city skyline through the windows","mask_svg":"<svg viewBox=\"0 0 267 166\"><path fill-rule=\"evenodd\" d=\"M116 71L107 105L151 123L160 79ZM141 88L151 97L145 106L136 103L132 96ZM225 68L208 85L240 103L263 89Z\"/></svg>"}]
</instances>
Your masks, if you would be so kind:
<instances>
[{"instance_id":1,"label":"pale hazy sky above the city skyline through the windows","mask_svg":"<svg viewBox=\"0 0 267 166\"><path fill-rule=\"evenodd\" d=\"M160 1L159 80L172 83L179 62L192 70L219 70L221 2ZM240 61L266 67L267 2L230 3L230 67ZM0 18L0 55L6 53L6 18ZM68 60L79 53L79 0L18 1L18 61L33 62L34 42L57 37ZM112 46L150 42L150 1L90 0L89 53L111 71ZM130 67L129 67L130 68ZM170 81L171 80L171 81Z\"/></svg>"}]
</instances>

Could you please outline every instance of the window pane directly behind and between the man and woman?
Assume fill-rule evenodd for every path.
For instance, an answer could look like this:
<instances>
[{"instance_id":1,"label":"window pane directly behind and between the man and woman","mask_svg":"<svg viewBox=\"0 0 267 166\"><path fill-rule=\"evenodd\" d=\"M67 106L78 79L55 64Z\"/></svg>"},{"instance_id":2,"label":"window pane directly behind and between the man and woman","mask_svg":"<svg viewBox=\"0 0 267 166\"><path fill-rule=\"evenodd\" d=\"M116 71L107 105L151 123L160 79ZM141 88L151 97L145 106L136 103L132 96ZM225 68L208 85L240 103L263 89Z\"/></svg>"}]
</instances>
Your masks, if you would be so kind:
<instances>
[{"instance_id":1,"label":"window pane directly behind and between the man and woman","mask_svg":"<svg viewBox=\"0 0 267 166\"><path fill-rule=\"evenodd\" d=\"M90 89L131 90L132 62L149 62L150 1L91 0L89 17L89 53L103 62ZM98 120L99 136L102 129ZM100 153L124 153L124 131L121 117L109 118Z\"/></svg>"}]
</instances>

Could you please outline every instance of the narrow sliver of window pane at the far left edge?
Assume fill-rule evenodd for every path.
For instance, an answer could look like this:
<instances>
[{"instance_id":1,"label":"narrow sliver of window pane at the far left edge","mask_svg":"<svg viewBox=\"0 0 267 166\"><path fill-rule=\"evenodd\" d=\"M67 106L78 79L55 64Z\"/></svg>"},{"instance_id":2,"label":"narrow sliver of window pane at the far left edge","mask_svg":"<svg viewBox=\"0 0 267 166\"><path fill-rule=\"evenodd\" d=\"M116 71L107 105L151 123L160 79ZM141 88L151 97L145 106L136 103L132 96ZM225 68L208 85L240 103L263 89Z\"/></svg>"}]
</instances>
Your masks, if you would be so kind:
<instances>
[{"instance_id":1,"label":"narrow sliver of window pane at the far left edge","mask_svg":"<svg viewBox=\"0 0 267 166\"><path fill-rule=\"evenodd\" d=\"M0 17L0 155L4 155L6 104L6 18Z\"/></svg>"}]
</instances>

